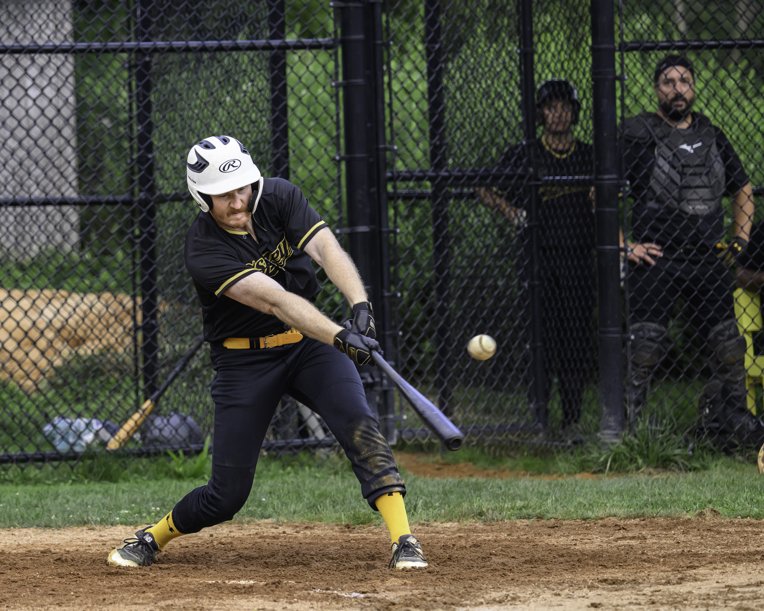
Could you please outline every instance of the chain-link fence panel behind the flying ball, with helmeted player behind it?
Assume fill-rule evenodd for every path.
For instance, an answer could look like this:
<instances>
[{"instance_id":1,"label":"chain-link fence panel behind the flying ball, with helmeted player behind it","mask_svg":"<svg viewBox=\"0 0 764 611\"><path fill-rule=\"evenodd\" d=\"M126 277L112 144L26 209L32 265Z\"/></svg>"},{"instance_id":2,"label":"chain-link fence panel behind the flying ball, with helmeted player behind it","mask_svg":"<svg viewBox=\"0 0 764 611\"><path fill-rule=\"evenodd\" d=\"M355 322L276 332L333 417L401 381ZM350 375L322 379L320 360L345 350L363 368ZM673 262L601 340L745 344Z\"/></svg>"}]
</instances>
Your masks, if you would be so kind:
<instances>
[{"instance_id":1,"label":"chain-link fence panel behind the flying ball, with helmeted player behind it","mask_svg":"<svg viewBox=\"0 0 764 611\"><path fill-rule=\"evenodd\" d=\"M390 4L397 354L473 435L571 441L597 430L588 5L533 3L523 40L529 8Z\"/></svg>"}]
</instances>

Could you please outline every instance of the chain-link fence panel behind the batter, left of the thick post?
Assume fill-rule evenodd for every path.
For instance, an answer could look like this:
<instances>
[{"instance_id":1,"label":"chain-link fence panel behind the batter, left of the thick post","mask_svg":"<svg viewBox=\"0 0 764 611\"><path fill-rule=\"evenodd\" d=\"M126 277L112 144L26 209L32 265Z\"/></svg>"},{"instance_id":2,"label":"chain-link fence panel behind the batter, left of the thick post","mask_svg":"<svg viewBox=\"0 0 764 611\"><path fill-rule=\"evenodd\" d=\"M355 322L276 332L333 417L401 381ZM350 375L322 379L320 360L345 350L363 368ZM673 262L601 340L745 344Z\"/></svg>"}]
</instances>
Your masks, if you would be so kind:
<instances>
[{"instance_id":1,"label":"chain-link fence panel behind the batter, left of the thick post","mask_svg":"<svg viewBox=\"0 0 764 611\"><path fill-rule=\"evenodd\" d=\"M200 448L213 372L183 264L197 212L185 156L236 134L267 176L341 222L333 11L283 0L0 11L0 461L102 448L184 355L125 451ZM340 317L332 287L319 300ZM265 447L284 438L327 443L316 415L286 399Z\"/></svg>"}]
</instances>

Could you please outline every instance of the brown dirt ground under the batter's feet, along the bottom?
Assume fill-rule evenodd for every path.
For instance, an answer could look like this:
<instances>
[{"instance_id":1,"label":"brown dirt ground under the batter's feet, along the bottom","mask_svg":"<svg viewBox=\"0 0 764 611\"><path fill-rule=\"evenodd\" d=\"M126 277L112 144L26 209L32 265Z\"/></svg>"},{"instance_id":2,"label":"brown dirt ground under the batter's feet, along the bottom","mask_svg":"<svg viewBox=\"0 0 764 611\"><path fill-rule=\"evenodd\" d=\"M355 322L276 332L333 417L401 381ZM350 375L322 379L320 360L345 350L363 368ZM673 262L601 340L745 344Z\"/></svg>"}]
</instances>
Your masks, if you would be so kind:
<instances>
[{"instance_id":1,"label":"brown dirt ground under the batter's feet, along the bottom","mask_svg":"<svg viewBox=\"0 0 764 611\"><path fill-rule=\"evenodd\" d=\"M3 529L0 609L762 609L756 520L417 525L430 567L390 571L380 526L224 524L152 567L108 567L123 526Z\"/></svg>"}]
</instances>

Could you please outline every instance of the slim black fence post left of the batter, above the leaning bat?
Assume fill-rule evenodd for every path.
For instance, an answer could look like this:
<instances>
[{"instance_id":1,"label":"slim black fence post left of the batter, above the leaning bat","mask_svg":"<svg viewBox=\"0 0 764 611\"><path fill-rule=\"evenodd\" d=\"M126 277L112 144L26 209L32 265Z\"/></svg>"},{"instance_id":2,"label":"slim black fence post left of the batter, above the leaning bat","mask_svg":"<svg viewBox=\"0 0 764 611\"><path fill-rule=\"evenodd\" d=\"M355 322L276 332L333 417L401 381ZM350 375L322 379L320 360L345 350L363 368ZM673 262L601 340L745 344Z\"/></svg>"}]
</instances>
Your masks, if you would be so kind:
<instances>
[{"instance_id":1,"label":"slim black fence post left of the batter, above the leaning bat","mask_svg":"<svg viewBox=\"0 0 764 611\"><path fill-rule=\"evenodd\" d=\"M136 40L151 41L151 0L136 5ZM159 325L157 324L157 210L154 204L154 147L151 142L151 53L136 53L135 118L138 155L138 243L141 247L141 332L144 397L157 390Z\"/></svg>"}]
</instances>

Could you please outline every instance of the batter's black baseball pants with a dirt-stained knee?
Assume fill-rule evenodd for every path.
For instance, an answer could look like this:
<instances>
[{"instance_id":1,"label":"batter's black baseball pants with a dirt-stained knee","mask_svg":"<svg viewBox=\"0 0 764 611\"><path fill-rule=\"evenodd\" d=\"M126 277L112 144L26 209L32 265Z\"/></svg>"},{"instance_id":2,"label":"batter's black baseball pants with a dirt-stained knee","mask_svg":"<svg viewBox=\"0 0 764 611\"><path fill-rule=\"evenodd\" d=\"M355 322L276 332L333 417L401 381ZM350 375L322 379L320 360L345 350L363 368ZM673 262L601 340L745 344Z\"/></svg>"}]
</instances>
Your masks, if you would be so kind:
<instances>
[{"instance_id":1,"label":"batter's black baseball pants with a dirt-stained knee","mask_svg":"<svg viewBox=\"0 0 764 611\"><path fill-rule=\"evenodd\" d=\"M354 364L311 338L262 350L212 347L215 442L212 478L173 509L184 534L230 520L244 506L257 456L281 396L318 413L351 461L361 494L372 507L382 494L406 494L390 446L366 402Z\"/></svg>"}]
</instances>

